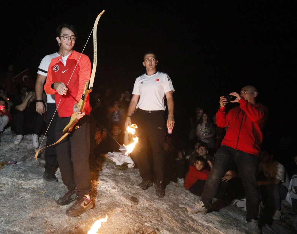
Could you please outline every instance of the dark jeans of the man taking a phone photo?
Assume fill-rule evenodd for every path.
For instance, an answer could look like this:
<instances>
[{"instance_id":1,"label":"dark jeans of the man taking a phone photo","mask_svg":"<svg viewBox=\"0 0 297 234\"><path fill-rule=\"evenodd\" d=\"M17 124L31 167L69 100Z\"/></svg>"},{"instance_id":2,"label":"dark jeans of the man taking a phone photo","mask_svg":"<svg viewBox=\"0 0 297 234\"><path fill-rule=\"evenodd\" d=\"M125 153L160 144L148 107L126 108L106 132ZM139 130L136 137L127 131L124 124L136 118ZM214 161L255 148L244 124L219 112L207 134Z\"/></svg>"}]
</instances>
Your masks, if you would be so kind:
<instances>
[{"instance_id":1,"label":"dark jeans of the man taking a phone photo","mask_svg":"<svg viewBox=\"0 0 297 234\"><path fill-rule=\"evenodd\" d=\"M259 212L259 193L257 190L257 174L259 156L248 154L228 146L221 146L216 155L214 167L206 180L201 200L206 208L209 208L211 201L216 195L222 177L234 166L238 169L238 176L242 180L247 202L247 222L257 219Z\"/></svg>"}]
</instances>

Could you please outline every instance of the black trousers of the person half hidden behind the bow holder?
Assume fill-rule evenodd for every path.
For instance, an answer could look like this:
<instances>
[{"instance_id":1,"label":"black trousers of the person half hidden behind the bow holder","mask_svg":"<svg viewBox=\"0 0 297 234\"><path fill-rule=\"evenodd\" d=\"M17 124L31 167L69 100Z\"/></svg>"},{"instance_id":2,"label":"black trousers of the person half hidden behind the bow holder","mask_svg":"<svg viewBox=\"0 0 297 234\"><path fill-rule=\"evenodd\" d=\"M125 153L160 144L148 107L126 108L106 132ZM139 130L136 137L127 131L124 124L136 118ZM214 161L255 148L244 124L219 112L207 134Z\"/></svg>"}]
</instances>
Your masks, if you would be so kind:
<instances>
[{"instance_id":1,"label":"black trousers of the person half hidden behind the bow holder","mask_svg":"<svg viewBox=\"0 0 297 234\"><path fill-rule=\"evenodd\" d=\"M47 126L50 124L49 125L50 127L48 127L48 130L46 133L46 136L47 136L46 146L50 146L51 144L56 142L55 129L56 129L56 124L59 117L58 117L58 112L56 111L55 113L55 111L56 111L56 103L55 102L47 103L46 124ZM45 170L48 173L55 173L59 167L57 154L56 154L56 145L45 148L44 159L45 159L45 167L44 167Z\"/></svg>"}]
</instances>

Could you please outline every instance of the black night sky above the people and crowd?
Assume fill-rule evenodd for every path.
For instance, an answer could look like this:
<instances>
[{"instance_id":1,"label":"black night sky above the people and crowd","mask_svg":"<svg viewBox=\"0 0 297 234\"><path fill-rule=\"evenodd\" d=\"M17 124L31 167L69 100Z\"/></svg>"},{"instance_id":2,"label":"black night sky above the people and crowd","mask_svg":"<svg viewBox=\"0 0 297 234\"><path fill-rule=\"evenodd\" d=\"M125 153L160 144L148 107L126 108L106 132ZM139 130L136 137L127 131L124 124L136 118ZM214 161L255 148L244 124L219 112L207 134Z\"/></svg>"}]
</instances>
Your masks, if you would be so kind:
<instances>
[{"instance_id":1,"label":"black night sky above the people and crowd","mask_svg":"<svg viewBox=\"0 0 297 234\"><path fill-rule=\"evenodd\" d=\"M97 83L132 91L145 72L143 53L154 50L158 70L173 80L176 116L196 106L214 114L219 96L254 84L273 121L294 120L296 1L32 2L1 3L1 72L13 64L35 78L41 59L57 51L55 29L64 22L77 28L75 50L81 52L105 10L98 24ZM83 53L93 61L92 41Z\"/></svg>"}]
</instances>

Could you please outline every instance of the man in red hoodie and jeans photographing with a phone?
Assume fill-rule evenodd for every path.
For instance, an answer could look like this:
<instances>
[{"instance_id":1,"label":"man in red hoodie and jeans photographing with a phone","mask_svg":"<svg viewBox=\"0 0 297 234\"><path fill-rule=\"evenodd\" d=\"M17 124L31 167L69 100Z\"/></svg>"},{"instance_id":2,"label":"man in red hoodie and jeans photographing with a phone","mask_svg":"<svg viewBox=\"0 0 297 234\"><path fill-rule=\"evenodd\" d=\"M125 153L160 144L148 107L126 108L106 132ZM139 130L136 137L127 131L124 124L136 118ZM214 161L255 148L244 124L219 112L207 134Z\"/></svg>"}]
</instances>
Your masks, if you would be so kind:
<instances>
[{"instance_id":1,"label":"man in red hoodie and jeans photographing with a phone","mask_svg":"<svg viewBox=\"0 0 297 234\"><path fill-rule=\"evenodd\" d=\"M224 96L220 97L220 108L216 114L217 126L228 126L228 129L216 153L214 167L206 181L201 201L187 206L187 209L192 214L206 214L211 208L211 201L221 178L230 167L236 166L247 198L246 220L249 233L261 233L257 220L259 193L256 176L263 138L262 129L268 119L268 108L256 103L258 92L254 86L245 86L240 94L232 92L230 95L236 97L231 102L238 102L239 106L227 113L227 99Z\"/></svg>"}]
</instances>

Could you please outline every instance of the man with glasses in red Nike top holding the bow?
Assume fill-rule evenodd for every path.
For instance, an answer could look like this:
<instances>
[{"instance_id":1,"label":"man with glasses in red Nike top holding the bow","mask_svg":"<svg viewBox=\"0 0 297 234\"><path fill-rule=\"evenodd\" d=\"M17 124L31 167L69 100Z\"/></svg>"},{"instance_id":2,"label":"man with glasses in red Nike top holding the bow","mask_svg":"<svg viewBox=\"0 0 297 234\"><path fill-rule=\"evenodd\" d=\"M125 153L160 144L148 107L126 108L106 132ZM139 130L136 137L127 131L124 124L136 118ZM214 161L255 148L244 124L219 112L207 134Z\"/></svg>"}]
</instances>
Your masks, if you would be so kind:
<instances>
[{"instance_id":1,"label":"man with glasses in red Nike top holding the bow","mask_svg":"<svg viewBox=\"0 0 297 234\"><path fill-rule=\"evenodd\" d=\"M63 129L74 112L78 113L76 118L80 119L71 134L56 145L62 181L68 188L68 192L56 200L56 203L68 205L75 200L66 214L78 216L94 205L89 167L89 96L82 113L77 103L83 95L86 82L90 80L91 61L88 56L73 50L76 41L74 26L63 24L58 26L56 31L56 40L61 45L62 54L51 60L44 85L47 94L55 94L59 116L56 123L56 140L63 135Z\"/></svg>"}]
</instances>

